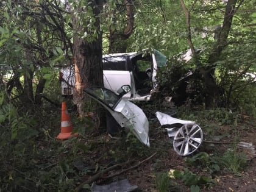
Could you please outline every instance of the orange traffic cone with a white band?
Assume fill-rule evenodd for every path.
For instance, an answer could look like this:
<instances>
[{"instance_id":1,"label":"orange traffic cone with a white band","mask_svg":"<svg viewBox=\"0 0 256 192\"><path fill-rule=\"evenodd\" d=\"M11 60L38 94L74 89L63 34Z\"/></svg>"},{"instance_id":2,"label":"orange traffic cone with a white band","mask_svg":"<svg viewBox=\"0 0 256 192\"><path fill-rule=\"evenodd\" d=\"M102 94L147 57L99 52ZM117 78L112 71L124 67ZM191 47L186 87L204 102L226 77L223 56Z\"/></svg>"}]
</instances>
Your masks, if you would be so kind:
<instances>
[{"instance_id":1,"label":"orange traffic cone with a white band","mask_svg":"<svg viewBox=\"0 0 256 192\"><path fill-rule=\"evenodd\" d=\"M62 127L60 129L60 133L57 136L57 139L59 140L66 140L71 136L76 136L78 133L73 132L73 126L71 124L69 115L68 115L68 110L66 109L66 103L62 102Z\"/></svg>"}]
</instances>

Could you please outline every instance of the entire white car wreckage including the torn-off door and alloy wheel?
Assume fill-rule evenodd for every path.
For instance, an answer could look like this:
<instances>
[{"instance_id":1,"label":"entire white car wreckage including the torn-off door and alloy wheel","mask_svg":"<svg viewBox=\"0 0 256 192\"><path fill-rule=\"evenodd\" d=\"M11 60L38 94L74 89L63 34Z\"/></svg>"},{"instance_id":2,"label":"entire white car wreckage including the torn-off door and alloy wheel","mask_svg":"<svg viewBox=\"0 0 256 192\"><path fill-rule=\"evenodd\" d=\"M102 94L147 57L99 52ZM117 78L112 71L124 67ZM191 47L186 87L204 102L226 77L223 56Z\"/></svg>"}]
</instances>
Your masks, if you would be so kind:
<instances>
[{"instance_id":1,"label":"entire white car wreckage including the torn-off door and alloy wheel","mask_svg":"<svg viewBox=\"0 0 256 192\"><path fill-rule=\"evenodd\" d=\"M188 62L192 58L191 50L188 49L179 58ZM150 146L148 118L140 107L130 101L151 100L152 93L158 90L157 71L165 67L166 62L166 56L156 49L102 56L104 87L89 87L85 89L85 93L109 112L107 113L107 131L110 135L118 131L116 126L125 127L127 130L132 130L141 143ZM190 71L180 80L184 80L191 74ZM74 69L69 66L61 69L60 80L62 95L72 95ZM157 112L155 115L162 127L168 127L166 130L169 138L173 140L177 154L190 155L199 148L203 134L201 127L194 121L172 118L162 112ZM113 124L115 126L112 126Z\"/></svg>"}]
</instances>

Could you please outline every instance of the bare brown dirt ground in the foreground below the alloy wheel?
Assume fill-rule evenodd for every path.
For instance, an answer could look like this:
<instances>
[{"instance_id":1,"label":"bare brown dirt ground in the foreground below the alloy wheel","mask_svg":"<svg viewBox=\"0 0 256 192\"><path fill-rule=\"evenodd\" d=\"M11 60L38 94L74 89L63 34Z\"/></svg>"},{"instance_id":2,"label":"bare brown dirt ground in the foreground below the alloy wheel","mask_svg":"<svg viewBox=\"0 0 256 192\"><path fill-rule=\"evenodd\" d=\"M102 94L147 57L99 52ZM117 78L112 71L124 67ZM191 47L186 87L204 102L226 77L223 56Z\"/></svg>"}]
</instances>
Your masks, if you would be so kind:
<instances>
[{"instance_id":1,"label":"bare brown dirt ground in the foreground below the alloy wheel","mask_svg":"<svg viewBox=\"0 0 256 192\"><path fill-rule=\"evenodd\" d=\"M114 169L110 172L107 172L104 177L107 178L111 174L115 174L119 171L124 171L122 174L118 174L116 177L111 177L110 179L101 178L96 182L97 185L104 185L110 183L113 180L128 179L131 185L137 185L137 191L157 191L155 187L155 175L157 172L167 172L169 169L177 169L182 171L184 168L189 168L197 175L208 174L205 168L200 168L200 166L188 166L185 162L185 157L177 155L172 144L169 141L167 133L163 128L158 129L151 133L151 148L147 152L148 156L143 158L135 158L136 162L141 162L147 157L151 156L156 152L154 157L146 160L135 168L125 170L127 167L134 165L129 165L127 167L122 167L121 169ZM203 129L203 128L202 128ZM203 130L204 132L204 130ZM229 133L229 137L223 137L220 141L209 141L210 138L205 136L204 143L202 143L199 151L207 152L208 154L215 153L218 151L219 154L224 153L227 149L230 148L230 143L233 142L235 135L237 134L233 131L233 127L222 126L218 130L219 133ZM98 148L98 151L94 151L94 154L106 154L109 151L115 150L116 141L109 138L107 134L101 135L102 147ZM248 126L248 129L240 132L239 141L246 143L252 143L254 148L256 147L256 127ZM256 149L256 148L255 148ZM211 187L200 187L203 192L255 192L256 191L256 153L247 148L239 147L239 152L246 154L247 158L247 167L244 171L241 171L240 174L234 175L231 172L221 169L218 174L216 174L212 179L215 180L215 185ZM91 158L98 158L92 157ZM107 159L106 159L107 160ZM134 160L134 159L133 159ZM108 160L107 160L108 161ZM101 162L101 161L98 161ZM102 162L101 162L102 163ZM107 163L107 162L106 162ZM190 191L190 188L184 185L179 179L171 179L173 185L172 190L177 192Z\"/></svg>"}]
</instances>

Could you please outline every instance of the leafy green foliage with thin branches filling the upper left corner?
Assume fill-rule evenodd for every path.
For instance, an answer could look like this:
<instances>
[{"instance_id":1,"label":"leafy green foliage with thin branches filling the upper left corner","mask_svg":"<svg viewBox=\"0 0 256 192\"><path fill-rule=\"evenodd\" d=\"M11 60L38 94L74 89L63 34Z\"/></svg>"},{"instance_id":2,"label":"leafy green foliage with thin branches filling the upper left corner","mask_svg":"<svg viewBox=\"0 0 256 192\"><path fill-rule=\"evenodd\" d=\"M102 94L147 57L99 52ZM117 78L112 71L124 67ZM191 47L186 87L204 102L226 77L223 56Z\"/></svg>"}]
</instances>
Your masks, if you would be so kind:
<instances>
[{"instance_id":1,"label":"leafy green foliage with thin branches filling the upper left corner","mask_svg":"<svg viewBox=\"0 0 256 192\"><path fill-rule=\"evenodd\" d=\"M53 93L52 90L58 89L54 66L69 63L66 60L69 55L62 50L62 43L67 42L54 37L59 35L56 29L63 27L60 9L51 2L21 4L10 1L1 4L0 63L1 80L9 98L16 105L27 106L41 104L42 98L49 99L49 90ZM51 12L56 14L53 16ZM65 38L65 34L60 36ZM10 75L6 76L7 73Z\"/></svg>"}]
</instances>

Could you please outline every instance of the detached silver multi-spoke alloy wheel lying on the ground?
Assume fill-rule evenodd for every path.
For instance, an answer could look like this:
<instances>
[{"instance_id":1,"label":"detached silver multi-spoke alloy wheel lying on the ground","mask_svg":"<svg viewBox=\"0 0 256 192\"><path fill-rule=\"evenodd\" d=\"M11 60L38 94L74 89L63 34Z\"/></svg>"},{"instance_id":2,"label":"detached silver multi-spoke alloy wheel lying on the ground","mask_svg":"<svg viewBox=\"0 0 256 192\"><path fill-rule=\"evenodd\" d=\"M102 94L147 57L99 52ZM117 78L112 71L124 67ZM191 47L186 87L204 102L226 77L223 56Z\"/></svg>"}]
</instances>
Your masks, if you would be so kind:
<instances>
[{"instance_id":1,"label":"detached silver multi-spoke alloy wheel lying on the ground","mask_svg":"<svg viewBox=\"0 0 256 192\"><path fill-rule=\"evenodd\" d=\"M203 141L201 127L197 124L184 124L174 136L173 148L177 154L186 156L193 154Z\"/></svg>"}]
</instances>

